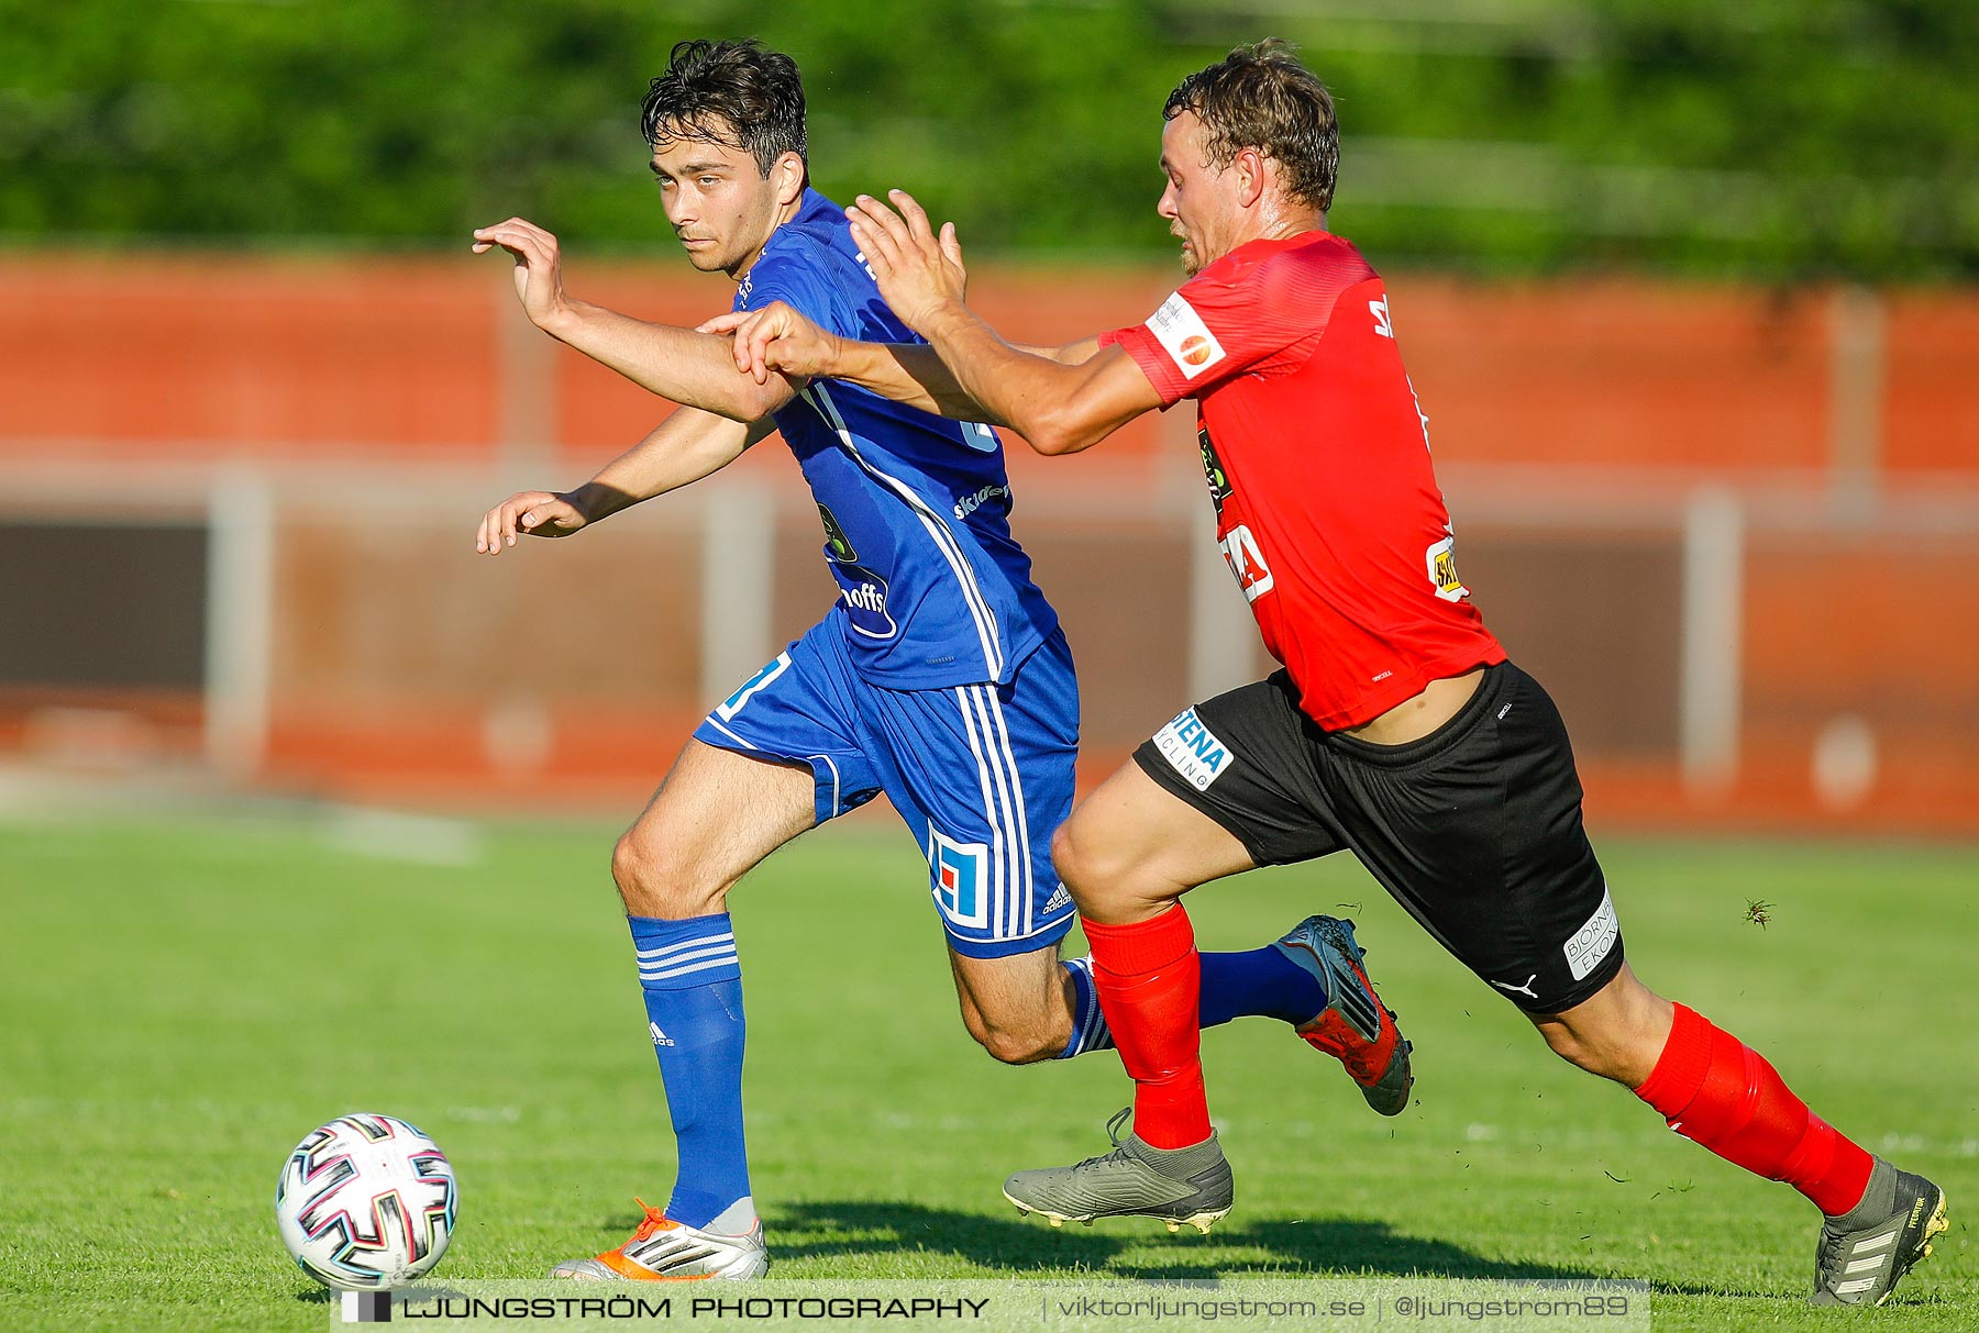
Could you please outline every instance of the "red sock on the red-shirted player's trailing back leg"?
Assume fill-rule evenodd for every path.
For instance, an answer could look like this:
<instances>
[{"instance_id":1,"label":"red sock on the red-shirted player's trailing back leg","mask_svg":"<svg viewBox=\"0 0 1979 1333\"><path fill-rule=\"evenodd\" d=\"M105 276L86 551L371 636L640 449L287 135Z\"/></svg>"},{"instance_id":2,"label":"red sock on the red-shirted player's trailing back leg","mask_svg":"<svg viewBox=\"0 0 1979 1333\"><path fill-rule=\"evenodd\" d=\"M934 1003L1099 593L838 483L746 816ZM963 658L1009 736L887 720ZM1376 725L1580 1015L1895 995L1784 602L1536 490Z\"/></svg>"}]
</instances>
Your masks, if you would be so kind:
<instances>
[{"instance_id":1,"label":"red sock on the red-shirted player's trailing back leg","mask_svg":"<svg viewBox=\"0 0 1979 1333\"><path fill-rule=\"evenodd\" d=\"M1807 1110L1751 1046L1676 1007L1670 1040L1635 1090L1670 1129L1769 1181L1785 1181L1829 1216L1862 1202L1874 1161Z\"/></svg>"}]
</instances>

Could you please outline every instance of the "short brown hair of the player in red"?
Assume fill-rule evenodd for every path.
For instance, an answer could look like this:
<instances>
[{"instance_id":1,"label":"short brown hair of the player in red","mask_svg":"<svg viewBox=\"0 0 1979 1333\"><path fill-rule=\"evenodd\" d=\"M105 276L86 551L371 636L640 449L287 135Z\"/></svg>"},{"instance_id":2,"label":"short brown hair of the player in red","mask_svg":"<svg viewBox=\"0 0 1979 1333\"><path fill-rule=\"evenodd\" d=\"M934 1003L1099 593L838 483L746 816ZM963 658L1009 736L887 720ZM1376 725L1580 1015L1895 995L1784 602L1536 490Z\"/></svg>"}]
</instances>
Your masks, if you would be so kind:
<instances>
[{"instance_id":1,"label":"short brown hair of the player in red","mask_svg":"<svg viewBox=\"0 0 1979 1333\"><path fill-rule=\"evenodd\" d=\"M1340 123L1332 93L1292 49L1280 38L1239 45L1178 83L1162 119L1193 111L1203 121L1215 166L1229 166L1241 150L1257 148L1278 164L1294 198L1324 214L1334 206L1340 174Z\"/></svg>"}]
</instances>

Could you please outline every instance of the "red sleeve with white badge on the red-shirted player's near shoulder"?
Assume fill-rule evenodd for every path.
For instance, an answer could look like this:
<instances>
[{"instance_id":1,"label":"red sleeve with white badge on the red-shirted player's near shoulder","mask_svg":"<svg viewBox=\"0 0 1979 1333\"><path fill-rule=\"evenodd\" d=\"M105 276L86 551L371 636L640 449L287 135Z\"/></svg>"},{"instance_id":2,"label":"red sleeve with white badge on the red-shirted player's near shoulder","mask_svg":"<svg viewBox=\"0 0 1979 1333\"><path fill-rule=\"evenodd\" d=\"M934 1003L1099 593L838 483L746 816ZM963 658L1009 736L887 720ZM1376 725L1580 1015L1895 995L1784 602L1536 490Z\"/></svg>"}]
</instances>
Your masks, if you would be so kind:
<instances>
[{"instance_id":1,"label":"red sleeve with white badge on the red-shirted player's near shoulder","mask_svg":"<svg viewBox=\"0 0 1979 1333\"><path fill-rule=\"evenodd\" d=\"M1126 348L1164 407L1201 398L1316 340L1340 291L1373 275L1360 255L1352 263L1310 259L1227 255L1183 283L1148 322L1100 334L1100 346Z\"/></svg>"}]
</instances>

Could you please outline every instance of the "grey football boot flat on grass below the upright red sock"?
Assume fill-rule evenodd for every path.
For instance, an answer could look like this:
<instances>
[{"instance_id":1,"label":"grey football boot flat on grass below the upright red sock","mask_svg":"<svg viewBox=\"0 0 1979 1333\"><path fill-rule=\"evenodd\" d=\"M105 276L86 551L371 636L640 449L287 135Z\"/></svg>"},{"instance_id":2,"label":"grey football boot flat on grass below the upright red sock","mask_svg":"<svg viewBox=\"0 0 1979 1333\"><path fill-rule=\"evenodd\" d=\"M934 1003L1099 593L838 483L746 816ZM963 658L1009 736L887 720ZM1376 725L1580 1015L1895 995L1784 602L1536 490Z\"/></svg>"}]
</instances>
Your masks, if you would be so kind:
<instances>
[{"instance_id":1,"label":"grey football boot flat on grass below the upright red sock","mask_svg":"<svg viewBox=\"0 0 1979 1333\"><path fill-rule=\"evenodd\" d=\"M1106 1121L1112 1151L1086 1157L1077 1167L1019 1171L1003 1181L1003 1199L1023 1214L1039 1212L1053 1226L1092 1224L1102 1216L1152 1216L1181 1230L1199 1232L1231 1210L1235 1197L1231 1165L1211 1133L1189 1147L1154 1147L1138 1133L1120 1139L1120 1125L1132 1108Z\"/></svg>"}]
</instances>

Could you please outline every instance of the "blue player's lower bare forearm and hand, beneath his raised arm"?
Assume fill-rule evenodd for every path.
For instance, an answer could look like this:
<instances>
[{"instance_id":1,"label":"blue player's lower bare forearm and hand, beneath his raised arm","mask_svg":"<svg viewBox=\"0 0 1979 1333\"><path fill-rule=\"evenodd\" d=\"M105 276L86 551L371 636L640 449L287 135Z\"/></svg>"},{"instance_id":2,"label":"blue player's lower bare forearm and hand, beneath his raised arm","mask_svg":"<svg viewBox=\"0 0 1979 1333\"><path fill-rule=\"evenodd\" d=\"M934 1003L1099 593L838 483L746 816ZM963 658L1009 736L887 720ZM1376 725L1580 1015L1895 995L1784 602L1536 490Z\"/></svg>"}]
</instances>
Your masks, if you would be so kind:
<instances>
[{"instance_id":1,"label":"blue player's lower bare forearm and hand, beneath his raised arm","mask_svg":"<svg viewBox=\"0 0 1979 1333\"><path fill-rule=\"evenodd\" d=\"M734 463L768 435L768 419L742 423L681 407L576 490L518 490L481 518L475 550L499 556L524 536L570 536L621 508L677 490Z\"/></svg>"}]
</instances>

